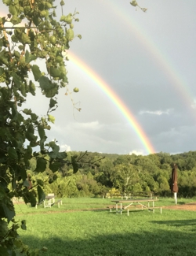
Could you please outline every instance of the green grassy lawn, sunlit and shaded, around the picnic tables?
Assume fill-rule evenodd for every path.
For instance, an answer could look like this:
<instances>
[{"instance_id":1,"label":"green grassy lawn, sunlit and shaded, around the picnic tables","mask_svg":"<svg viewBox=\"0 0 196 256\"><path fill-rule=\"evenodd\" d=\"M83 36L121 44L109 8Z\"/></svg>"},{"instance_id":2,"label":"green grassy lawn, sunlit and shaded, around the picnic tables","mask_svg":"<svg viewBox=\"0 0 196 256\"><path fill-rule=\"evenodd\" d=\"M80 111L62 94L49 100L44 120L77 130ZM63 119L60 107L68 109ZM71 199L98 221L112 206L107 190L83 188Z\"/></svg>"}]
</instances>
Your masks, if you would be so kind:
<instances>
[{"instance_id":1,"label":"green grassy lawn, sunlit and shaded, around the picnic tables","mask_svg":"<svg viewBox=\"0 0 196 256\"><path fill-rule=\"evenodd\" d=\"M192 202L179 199L179 204ZM196 212L185 210L110 212L111 199L64 198L63 205L38 209L16 205L16 219L27 220L20 237L47 256L196 255ZM160 199L156 206L174 205Z\"/></svg>"}]
</instances>

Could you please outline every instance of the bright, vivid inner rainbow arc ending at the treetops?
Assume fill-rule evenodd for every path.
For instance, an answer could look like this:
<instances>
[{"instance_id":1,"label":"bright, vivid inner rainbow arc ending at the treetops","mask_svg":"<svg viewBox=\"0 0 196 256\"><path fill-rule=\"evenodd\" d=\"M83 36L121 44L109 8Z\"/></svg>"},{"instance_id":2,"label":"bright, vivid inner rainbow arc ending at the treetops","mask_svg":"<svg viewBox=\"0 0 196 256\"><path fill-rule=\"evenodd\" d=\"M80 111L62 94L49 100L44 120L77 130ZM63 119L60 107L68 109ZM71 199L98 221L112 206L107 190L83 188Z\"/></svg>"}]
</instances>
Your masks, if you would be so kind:
<instances>
[{"instance_id":1,"label":"bright, vivid inner rainbow arc ending at the treetops","mask_svg":"<svg viewBox=\"0 0 196 256\"><path fill-rule=\"evenodd\" d=\"M154 154L155 150L151 145L150 140L147 138L145 132L143 132L143 129L140 127L140 124L138 124L131 111L127 106L125 106L125 103L122 102L122 99L119 98L118 95L116 95L116 93L112 90L112 88L105 81L103 81L103 79L98 74L96 74L93 69L90 69L84 61L76 57L70 50L68 51L67 55L69 60L73 62L74 65L78 67L78 69L82 70L86 76L89 76L89 78L100 87L100 89L107 95L107 97L110 98L112 102L114 102L114 105L117 106L126 120L129 121L129 124L131 124L133 130L136 132L136 135L139 137L141 143L143 143L143 146L146 148L147 153Z\"/></svg>"}]
</instances>

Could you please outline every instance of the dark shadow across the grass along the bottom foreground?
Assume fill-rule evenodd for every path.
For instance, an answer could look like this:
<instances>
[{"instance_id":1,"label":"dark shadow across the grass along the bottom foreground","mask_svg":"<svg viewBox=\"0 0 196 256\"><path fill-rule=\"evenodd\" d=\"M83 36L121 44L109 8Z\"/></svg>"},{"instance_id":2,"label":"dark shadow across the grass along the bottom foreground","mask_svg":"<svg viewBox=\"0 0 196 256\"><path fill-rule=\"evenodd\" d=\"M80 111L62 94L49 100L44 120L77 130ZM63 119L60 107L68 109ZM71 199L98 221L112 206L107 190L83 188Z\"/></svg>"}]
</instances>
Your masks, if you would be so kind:
<instances>
[{"instance_id":1,"label":"dark shadow across the grass along the bottom foreground","mask_svg":"<svg viewBox=\"0 0 196 256\"><path fill-rule=\"evenodd\" d=\"M175 222L175 221L173 221ZM183 221L182 221L183 222ZM188 222L184 222L187 224ZM48 247L40 255L45 256L184 256L195 255L195 233L179 231L140 232L89 236L73 239L51 236L37 239L25 236L24 242L31 247Z\"/></svg>"}]
</instances>

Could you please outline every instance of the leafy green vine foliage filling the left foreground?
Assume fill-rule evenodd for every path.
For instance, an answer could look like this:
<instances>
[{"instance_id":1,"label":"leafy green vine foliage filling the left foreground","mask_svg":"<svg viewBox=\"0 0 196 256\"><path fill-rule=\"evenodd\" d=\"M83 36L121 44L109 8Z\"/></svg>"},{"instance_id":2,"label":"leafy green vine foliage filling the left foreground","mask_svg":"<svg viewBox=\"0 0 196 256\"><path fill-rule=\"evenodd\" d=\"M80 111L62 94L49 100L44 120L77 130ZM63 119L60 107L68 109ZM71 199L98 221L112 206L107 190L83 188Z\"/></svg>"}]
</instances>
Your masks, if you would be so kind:
<instances>
[{"instance_id":1,"label":"leafy green vine foliage filling the left foreground","mask_svg":"<svg viewBox=\"0 0 196 256\"><path fill-rule=\"evenodd\" d=\"M0 17L0 254L15 255L18 247L27 255L38 255L38 250L32 252L17 237L20 225L24 229L26 226L25 221L14 221L11 199L23 196L24 202L35 206L37 197L38 202L45 198L42 183L29 187L27 169L32 158L36 161L35 173L46 168L56 173L66 162L67 154L60 152L55 141L46 143L45 130L54 122L51 112L57 108L56 95L60 88L67 87L64 52L74 39L73 22L78 18L77 13L69 13L56 20L54 0L2 2L9 10L6 17ZM63 0L60 6L63 8ZM42 61L42 65L34 61ZM41 118L24 108L27 95L35 96L38 89L49 99L47 113ZM36 152L37 147L40 152ZM72 159L74 172L76 161L77 158Z\"/></svg>"}]
</instances>

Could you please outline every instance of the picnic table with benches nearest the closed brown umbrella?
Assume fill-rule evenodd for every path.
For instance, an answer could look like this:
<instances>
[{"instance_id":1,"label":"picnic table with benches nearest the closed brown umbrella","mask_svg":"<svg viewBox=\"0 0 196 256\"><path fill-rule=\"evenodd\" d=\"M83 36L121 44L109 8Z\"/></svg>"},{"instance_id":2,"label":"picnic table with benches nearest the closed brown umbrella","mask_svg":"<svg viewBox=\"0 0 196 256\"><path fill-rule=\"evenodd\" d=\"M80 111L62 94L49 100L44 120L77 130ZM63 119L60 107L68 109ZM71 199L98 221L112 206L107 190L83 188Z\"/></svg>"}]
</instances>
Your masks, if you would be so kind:
<instances>
[{"instance_id":1,"label":"picnic table with benches nearest the closed brown umbrella","mask_svg":"<svg viewBox=\"0 0 196 256\"><path fill-rule=\"evenodd\" d=\"M154 202L157 202L157 198L135 198L128 200L112 200L116 204L116 213L118 213L118 204L120 204L120 213L122 214L123 210L127 210L127 215L129 216L129 210L152 210L159 208L162 213L162 206L155 207ZM124 205L124 206L123 206ZM132 207L136 206L136 207ZM139 206L139 207L138 207Z\"/></svg>"}]
</instances>

